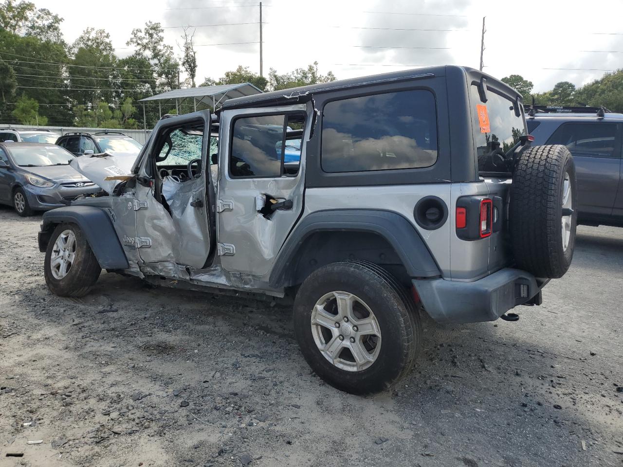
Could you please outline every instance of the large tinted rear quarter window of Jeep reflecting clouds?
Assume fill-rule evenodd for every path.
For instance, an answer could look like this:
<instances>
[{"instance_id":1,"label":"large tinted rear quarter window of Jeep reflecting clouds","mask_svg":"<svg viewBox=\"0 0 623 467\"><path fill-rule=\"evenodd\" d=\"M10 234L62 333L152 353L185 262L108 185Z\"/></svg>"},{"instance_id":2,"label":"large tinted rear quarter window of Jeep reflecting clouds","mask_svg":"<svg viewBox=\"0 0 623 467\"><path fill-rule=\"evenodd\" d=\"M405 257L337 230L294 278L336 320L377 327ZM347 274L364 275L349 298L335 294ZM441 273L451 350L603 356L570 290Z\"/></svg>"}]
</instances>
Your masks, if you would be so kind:
<instances>
[{"instance_id":1,"label":"large tinted rear quarter window of Jeep reflecting clouds","mask_svg":"<svg viewBox=\"0 0 623 467\"><path fill-rule=\"evenodd\" d=\"M325 172L430 167L437 161L437 109L428 90L354 97L325 105Z\"/></svg>"}]
</instances>

